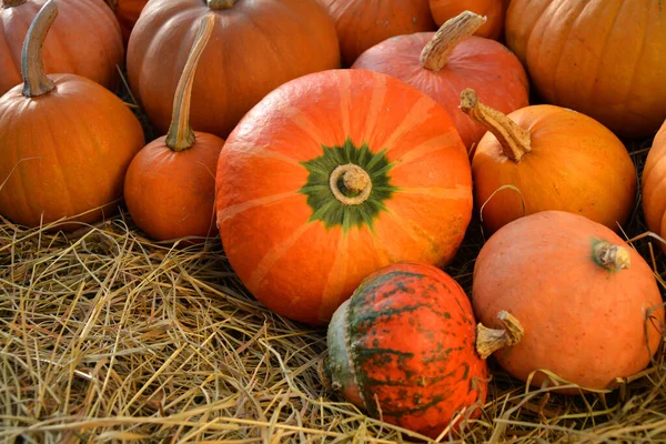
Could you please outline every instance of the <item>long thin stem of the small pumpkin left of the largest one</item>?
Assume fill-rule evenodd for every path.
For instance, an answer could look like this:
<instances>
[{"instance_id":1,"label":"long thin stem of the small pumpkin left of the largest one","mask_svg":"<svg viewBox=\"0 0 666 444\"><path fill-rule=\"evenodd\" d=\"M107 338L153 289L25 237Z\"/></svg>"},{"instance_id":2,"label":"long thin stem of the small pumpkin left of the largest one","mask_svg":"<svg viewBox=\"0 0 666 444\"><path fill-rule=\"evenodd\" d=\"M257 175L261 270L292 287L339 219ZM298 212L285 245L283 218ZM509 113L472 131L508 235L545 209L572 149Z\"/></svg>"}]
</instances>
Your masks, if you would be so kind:
<instances>
[{"instance_id":1,"label":"long thin stem of the small pumpkin left of the largest one","mask_svg":"<svg viewBox=\"0 0 666 444\"><path fill-rule=\"evenodd\" d=\"M215 24L215 14L209 12L201 19L199 32L194 39L194 44L188 56L185 68L175 87L175 97L173 98L173 113L171 115L171 124L167 133L167 147L173 151L183 151L194 144L194 131L190 127L190 103L192 100L192 85L194 84L194 73L196 72L196 63L205 49L206 43L213 32Z\"/></svg>"}]
</instances>

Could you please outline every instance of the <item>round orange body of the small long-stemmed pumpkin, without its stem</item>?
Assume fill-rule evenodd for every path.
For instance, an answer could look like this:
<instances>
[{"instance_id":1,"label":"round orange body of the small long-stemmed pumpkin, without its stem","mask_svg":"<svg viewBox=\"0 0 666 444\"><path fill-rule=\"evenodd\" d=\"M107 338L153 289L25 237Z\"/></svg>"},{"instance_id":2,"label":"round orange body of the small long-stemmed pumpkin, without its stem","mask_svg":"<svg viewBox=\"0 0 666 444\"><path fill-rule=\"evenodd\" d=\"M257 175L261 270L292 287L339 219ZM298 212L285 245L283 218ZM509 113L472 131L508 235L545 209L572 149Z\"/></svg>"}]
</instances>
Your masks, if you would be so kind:
<instances>
[{"instance_id":1,"label":"round orange body of the small long-stemmed pumpkin, without its stem","mask_svg":"<svg viewBox=\"0 0 666 444\"><path fill-rule=\"evenodd\" d=\"M128 169L128 209L152 239L205 238L216 230L215 169L224 140L194 134L194 145L181 152L167 147L167 137L152 141Z\"/></svg>"}]
</instances>

